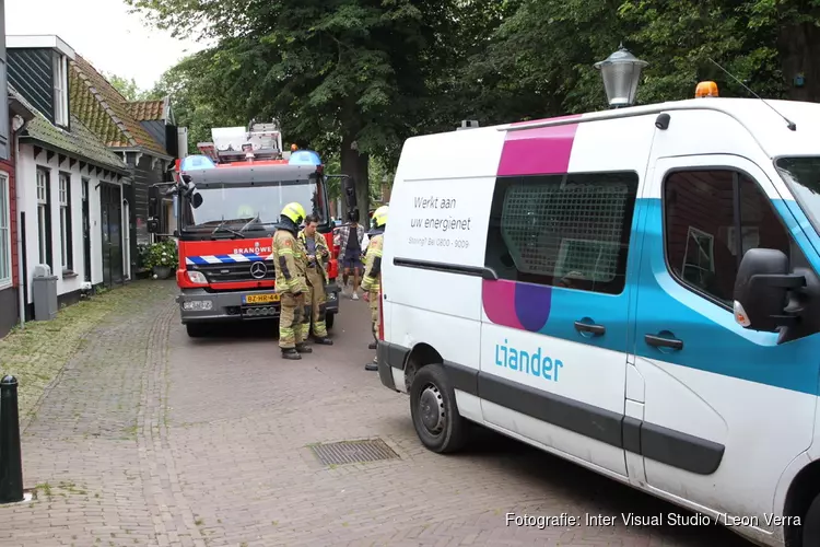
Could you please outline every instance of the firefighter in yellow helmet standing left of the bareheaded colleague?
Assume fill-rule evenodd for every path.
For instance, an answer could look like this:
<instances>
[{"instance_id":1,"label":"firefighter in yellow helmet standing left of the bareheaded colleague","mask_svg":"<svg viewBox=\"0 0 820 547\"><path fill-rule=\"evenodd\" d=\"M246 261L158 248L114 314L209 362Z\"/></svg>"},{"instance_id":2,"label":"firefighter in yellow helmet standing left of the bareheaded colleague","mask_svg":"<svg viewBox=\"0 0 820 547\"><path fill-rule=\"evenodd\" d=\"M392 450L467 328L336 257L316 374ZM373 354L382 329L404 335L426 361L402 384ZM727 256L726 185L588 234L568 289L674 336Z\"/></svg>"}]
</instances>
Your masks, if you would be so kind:
<instances>
[{"instance_id":1,"label":"firefighter in yellow helmet standing left of the bareheaded colleague","mask_svg":"<svg viewBox=\"0 0 820 547\"><path fill-rule=\"evenodd\" d=\"M272 255L277 269L277 292L280 294L279 347L282 359L302 359L300 353L311 353L302 338L302 314L305 307L306 259L297 240L298 225L305 218L305 208L297 202L288 203L273 233Z\"/></svg>"}]
</instances>

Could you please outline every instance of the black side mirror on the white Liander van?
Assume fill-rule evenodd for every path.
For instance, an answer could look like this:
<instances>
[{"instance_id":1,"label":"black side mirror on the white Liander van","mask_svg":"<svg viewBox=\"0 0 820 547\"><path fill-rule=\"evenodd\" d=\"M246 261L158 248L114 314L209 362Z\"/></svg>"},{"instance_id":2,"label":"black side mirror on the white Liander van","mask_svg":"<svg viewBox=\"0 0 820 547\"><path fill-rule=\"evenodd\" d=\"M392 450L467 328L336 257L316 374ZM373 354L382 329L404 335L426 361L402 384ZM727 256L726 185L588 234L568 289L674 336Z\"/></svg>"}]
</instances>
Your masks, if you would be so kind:
<instances>
[{"instance_id":1,"label":"black side mirror on the white Liander van","mask_svg":"<svg viewBox=\"0 0 820 547\"><path fill-rule=\"evenodd\" d=\"M735 321L751 330L781 331L777 344L818 330L819 282L809 269L789 272L788 257L773 248L749 249L735 280Z\"/></svg>"}]
</instances>

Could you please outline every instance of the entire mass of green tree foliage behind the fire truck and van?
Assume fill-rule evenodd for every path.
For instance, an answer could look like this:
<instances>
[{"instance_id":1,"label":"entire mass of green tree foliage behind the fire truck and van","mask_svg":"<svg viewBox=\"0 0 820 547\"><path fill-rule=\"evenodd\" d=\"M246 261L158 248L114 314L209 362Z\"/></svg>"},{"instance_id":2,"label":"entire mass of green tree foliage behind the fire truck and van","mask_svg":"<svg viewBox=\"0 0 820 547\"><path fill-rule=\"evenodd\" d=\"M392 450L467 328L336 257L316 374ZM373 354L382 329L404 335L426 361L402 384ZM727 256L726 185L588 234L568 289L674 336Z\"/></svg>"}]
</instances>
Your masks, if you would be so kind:
<instances>
[{"instance_id":1,"label":"entire mass of green tree foliage behind the fire truck and van","mask_svg":"<svg viewBox=\"0 0 820 547\"><path fill-rule=\"evenodd\" d=\"M607 107L593 68L620 44L649 61L639 103L699 81L820 101L789 82L820 56L820 0L127 0L154 24L215 46L168 71L191 143L276 117L288 142L352 175L360 201L393 177L403 141ZM332 197L341 195L331 182ZM361 207L360 207L361 208Z\"/></svg>"}]
</instances>

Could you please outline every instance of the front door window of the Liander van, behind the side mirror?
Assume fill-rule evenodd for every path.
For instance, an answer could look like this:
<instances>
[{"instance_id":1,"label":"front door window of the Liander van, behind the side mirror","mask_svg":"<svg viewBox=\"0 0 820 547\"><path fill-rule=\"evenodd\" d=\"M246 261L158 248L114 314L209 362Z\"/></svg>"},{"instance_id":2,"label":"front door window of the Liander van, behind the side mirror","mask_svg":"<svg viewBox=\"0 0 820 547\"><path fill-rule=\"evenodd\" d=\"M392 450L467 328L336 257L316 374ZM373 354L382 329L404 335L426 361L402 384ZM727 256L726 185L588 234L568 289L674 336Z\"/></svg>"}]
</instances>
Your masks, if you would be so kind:
<instances>
[{"instance_id":1,"label":"front door window of the Liander van, behind the side mirror","mask_svg":"<svg viewBox=\"0 0 820 547\"><path fill-rule=\"evenodd\" d=\"M776 248L789 256L790 240L780 218L742 173L675 172L664 184L664 211L669 269L684 286L727 309L747 251Z\"/></svg>"}]
</instances>

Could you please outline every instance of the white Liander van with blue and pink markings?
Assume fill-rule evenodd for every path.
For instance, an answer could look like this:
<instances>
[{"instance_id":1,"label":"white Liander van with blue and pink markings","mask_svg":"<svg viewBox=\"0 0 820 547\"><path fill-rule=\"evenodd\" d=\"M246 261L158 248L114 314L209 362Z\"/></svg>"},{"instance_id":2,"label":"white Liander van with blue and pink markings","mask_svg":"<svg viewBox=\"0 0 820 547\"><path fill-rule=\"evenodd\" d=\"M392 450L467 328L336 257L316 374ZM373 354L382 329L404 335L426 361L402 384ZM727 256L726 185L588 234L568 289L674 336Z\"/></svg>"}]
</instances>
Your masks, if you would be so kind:
<instances>
[{"instance_id":1,"label":"white Liander van with blue and pink markings","mask_svg":"<svg viewBox=\"0 0 820 547\"><path fill-rule=\"evenodd\" d=\"M427 449L475 422L820 546L820 105L417 137L390 201L379 376Z\"/></svg>"}]
</instances>

